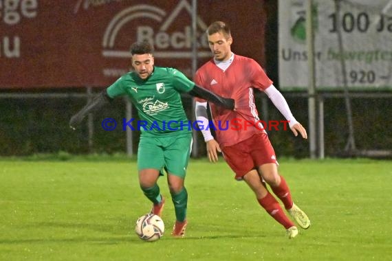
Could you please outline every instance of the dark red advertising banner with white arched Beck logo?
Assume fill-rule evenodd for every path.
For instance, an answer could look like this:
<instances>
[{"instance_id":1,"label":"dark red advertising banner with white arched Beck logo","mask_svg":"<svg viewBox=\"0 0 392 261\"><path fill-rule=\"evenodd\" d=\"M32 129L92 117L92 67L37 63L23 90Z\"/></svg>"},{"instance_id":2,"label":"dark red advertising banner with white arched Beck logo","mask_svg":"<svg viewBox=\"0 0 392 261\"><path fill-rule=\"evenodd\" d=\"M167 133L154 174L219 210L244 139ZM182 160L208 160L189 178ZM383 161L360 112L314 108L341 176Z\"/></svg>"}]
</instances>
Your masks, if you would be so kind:
<instances>
[{"instance_id":1,"label":"dark red advertising banner with white arched Beck logo","mask_svg":"<svg viewBox=\"0 0 392 261\"><path fill-rule=\"evenodd\" d=\"M0 0L0 88L105 87L131 68L129 47L150 41L155 64L191 74L190 0ZM263 1L197 1L198 64L206 28L232 27L237 54L264 61Z\"/></svg>"}]
</instances>

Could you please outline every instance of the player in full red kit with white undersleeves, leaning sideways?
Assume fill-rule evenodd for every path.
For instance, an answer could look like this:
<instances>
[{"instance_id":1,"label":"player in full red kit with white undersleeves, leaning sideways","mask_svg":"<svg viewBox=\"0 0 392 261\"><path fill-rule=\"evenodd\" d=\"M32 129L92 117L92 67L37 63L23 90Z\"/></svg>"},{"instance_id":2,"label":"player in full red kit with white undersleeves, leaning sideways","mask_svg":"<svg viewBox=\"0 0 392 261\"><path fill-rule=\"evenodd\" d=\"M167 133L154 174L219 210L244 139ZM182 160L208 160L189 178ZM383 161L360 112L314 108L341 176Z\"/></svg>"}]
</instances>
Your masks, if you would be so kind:
<instances>
[{"instance_id":1,"label":"player in full red kit with white undersleeves, leaning sideways","mask_svg":"<svg viewBox=\"0 0 392 261\"><path fill-rule=\"evenodd\" d=\"M298 229L270 194L265 183L270 185L272 192L282 201L298 225L307 229L310 220L305 212L293 203L290 189L278 172L274 148L263 129L254 104L254 89L268 95L289 122L295 136L299 133L307 139L306 130L296 121L285 98L274 87L261 66L251 58L231 52L232 36L226 23L212 23L207 34L214 58L197 70L194 80L209 91L234 99L236 104L235 111L209 104L216 129L215 140L209 129L203 129L203 126L208 126L207 102L196 99L195 113L206 141L208 158L216 162L217 152L223 152L224 159L235 172L235 179L246 181L256 194L259 204L285 227L288 238L294 238Z\"/></svg>"}]
</instances>

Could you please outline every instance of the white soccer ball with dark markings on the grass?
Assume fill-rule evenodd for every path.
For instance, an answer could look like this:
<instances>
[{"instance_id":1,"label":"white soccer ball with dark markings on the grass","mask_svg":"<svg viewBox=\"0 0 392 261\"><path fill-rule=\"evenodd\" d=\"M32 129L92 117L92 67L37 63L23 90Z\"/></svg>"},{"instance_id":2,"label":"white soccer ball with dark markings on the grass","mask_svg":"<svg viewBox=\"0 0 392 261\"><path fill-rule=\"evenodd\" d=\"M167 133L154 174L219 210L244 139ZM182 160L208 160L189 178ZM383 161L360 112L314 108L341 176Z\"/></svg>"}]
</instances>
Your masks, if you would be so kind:
<instances>
[{"instance_id":1,"label":"white soccer ball with dark markings on the grass","mask_svg":"<svg viewBox=\"0 0 392 261\"><path fill-rule=\"evenodd\" d=\"M164 222L160 216L145 214L136 221L135 232L142 240L156 241L164 234Z\"/></svg>"}]
</instances>

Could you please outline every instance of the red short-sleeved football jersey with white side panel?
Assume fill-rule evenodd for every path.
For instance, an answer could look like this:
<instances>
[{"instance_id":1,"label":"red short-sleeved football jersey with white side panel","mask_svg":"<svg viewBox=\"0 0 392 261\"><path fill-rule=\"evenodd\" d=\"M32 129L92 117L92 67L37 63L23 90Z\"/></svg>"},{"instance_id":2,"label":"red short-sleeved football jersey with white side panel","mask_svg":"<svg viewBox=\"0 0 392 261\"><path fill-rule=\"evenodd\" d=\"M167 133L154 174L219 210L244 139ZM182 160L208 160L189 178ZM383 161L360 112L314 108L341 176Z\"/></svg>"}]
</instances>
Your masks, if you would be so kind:
<instances>
[{"instance_id":1,"label":"red short-sleeved football jersey with white side panel","mask_svg":"<svg viewBox=\"0 0 392 261\"><path fill-rule=\"evenodd\" d=\"M231 65L222 71L212 59L197 70L194 81L200 87L235 100L236 111L210 103L219 146L232 146L263 131L253 89L263 91L270 87L272 80L255 60L235 55Z\"/></svg>"}]
</instances>

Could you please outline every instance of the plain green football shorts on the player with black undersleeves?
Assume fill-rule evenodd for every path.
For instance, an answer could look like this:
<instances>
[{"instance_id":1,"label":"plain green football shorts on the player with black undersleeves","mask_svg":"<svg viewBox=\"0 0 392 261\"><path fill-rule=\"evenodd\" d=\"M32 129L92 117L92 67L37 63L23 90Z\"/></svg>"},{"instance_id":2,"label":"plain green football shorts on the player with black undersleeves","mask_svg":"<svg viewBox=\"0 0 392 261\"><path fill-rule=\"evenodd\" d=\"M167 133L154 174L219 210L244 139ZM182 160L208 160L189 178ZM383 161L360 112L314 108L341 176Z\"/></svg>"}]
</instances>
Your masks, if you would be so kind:
<instances>
[{"instance_id":1,"label":"plain green football shorts on the player with black undersleeves","mask_svg":"<svg viewBox=\"0 0 392 261\"><path fill-rule=\"evenodd\" d=\"M192 149L192 133L169 137L140 137L138 170L162 168L170 174L185 178Z\"/></svg>"}]
</instances>

